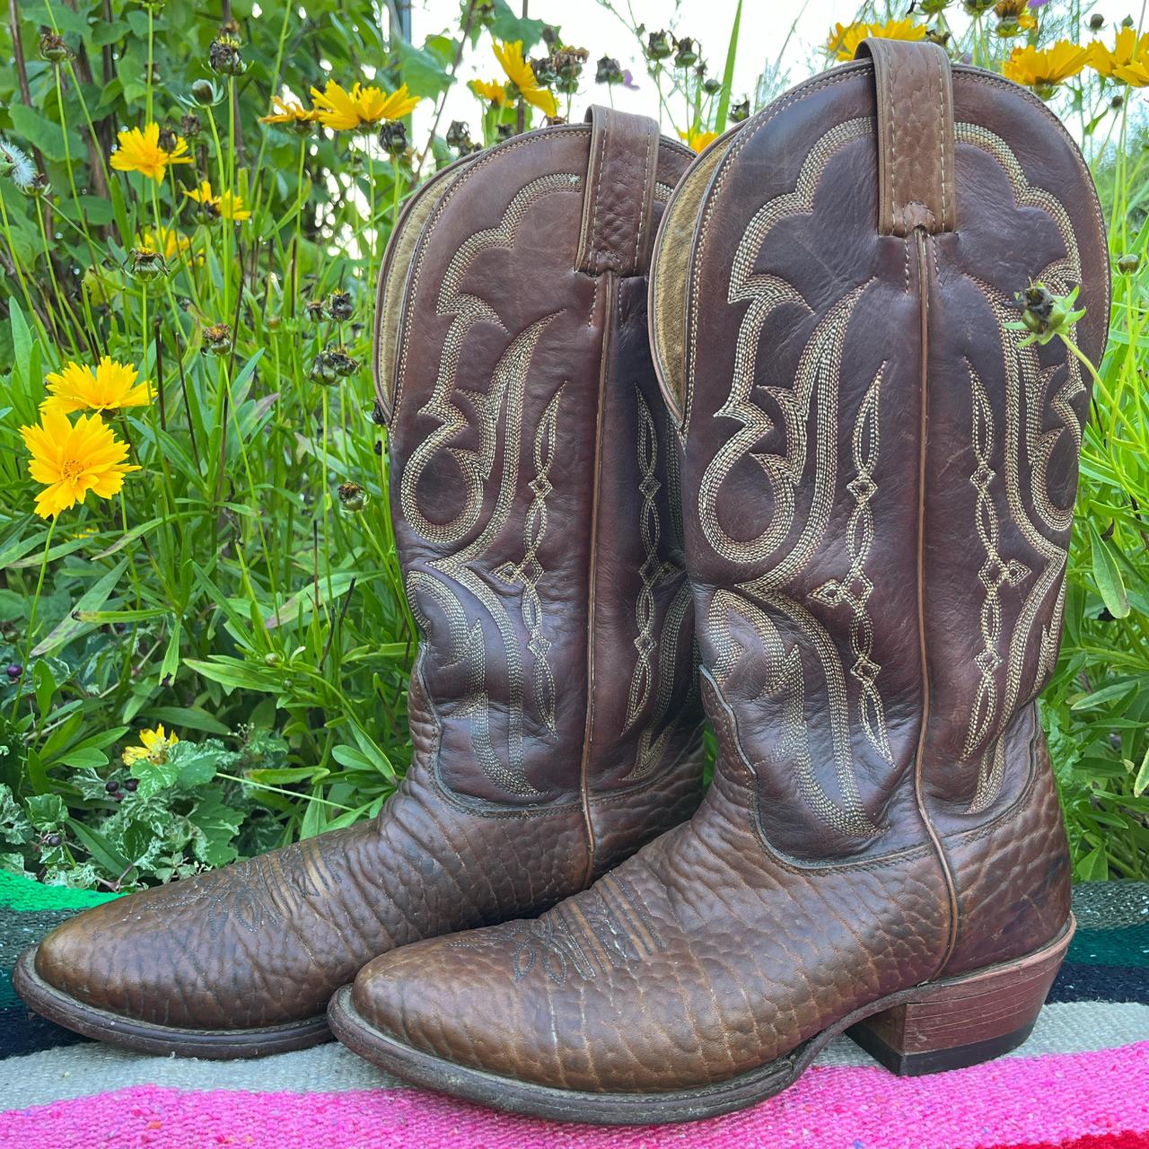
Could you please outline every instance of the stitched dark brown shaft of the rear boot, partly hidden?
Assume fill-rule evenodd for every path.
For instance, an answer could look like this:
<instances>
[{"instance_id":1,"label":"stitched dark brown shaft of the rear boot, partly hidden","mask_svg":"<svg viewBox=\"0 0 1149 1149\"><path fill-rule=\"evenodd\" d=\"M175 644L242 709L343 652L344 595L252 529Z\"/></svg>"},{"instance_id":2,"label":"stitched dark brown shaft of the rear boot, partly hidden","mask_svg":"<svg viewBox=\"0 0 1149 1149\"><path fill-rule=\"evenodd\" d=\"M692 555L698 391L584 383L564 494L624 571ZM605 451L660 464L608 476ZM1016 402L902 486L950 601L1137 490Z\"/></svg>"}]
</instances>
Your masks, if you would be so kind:
<instances>
[{"instance_id":1,"label":"stitched dark brown shaft of the rear boot, partly hidden","mask_svg":"<svg viewBox=\"0 0 1149 1149\"><path fill-rule=\"evenodd\" d=\"M645 278L688 159L653 121L596 109L440 173L392 238L392 518L432 753L468 800L622 795L694 738Z\"/></svg>"}]
</instances>

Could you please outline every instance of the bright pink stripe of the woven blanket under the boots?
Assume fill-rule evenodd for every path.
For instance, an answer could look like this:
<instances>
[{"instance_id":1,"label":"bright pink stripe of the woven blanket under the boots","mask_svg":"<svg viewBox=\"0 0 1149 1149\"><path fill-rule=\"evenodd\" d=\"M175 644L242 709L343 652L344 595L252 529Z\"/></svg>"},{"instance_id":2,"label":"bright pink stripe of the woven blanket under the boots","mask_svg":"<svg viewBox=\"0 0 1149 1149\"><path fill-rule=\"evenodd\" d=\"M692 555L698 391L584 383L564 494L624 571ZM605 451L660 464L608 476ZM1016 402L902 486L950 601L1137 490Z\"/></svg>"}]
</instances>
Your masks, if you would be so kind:
<instances>
[{"instance_id":1,"label":"bright pink stripe of the woven blanket under the boots","mask_svg":"<svg viewBox=\"0 0 1149 1149\"><path fill-rule=\"evenodd\" d=\"M549 1125L414 1089L184 1093L141 1086L0 1115L21 1149L978 1149L1149 1131L1149 1041L1004 1058L928 1078L815 1067L742 1113L689 1126Z\"/></svg>"}]
</instances>

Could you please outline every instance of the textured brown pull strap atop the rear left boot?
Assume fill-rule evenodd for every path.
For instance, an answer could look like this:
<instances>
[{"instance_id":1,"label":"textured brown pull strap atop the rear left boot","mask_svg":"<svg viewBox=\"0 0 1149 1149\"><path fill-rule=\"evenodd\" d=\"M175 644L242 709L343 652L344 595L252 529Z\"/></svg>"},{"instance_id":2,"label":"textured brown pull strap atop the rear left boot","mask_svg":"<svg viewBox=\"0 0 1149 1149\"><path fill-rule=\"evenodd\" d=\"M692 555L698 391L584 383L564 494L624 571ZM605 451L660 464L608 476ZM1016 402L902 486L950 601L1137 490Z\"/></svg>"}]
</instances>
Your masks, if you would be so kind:
<instances>
[{"instance_id":1,"label":"textured brown pull strap atop the rear left boot","mask_svg":"<svg viewBox=\"0 0 1149 1149\"><path fill-rule=\"evenodd\" d=\"M648 116L592 107L578 269L643 275L654 239L658 125Z\"/></svg>"}]
</instances>

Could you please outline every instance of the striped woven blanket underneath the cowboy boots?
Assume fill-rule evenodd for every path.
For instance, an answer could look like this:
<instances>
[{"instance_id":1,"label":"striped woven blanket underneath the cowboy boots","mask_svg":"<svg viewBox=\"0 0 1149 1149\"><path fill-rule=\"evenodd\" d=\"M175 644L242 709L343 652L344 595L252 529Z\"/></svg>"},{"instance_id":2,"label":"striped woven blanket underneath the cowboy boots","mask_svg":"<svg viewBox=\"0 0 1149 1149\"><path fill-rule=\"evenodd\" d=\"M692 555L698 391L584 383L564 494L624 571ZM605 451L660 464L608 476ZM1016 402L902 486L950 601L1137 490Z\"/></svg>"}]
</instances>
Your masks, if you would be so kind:
<instances>
[{"instance_id":1,"label":"striped woven blanket underneath the cowboy boots","mask_svg":"<svg viewBox=\"0 0 1149 1149\"><path fill-rule=\"evenodd\" d=\"M1149 1149L1149 885L1077 889L1069 959L1011 1056L896 1078L840 1039L755 1109L647 1129L488 1112L403 1088L337 1044L228 1063L84 1041L30 1016L9 971L25 946L106 896L0 872L5 1149Z\"/></svg>"}]
</instances>

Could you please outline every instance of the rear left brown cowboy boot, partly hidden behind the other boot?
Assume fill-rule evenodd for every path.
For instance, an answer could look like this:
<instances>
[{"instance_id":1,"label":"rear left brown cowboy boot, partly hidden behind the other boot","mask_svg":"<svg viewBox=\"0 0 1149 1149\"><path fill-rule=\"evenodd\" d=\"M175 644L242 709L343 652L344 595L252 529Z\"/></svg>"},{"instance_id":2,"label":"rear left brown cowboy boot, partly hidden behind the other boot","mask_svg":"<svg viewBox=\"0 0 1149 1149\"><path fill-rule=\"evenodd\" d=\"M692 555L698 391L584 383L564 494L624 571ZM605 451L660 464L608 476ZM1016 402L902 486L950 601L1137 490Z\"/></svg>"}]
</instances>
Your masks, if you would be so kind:
<instances>
[{"instance_id":1,"label":"rear left brown cowboy boot, partly hidden behind the other boot","mask_svg":"<svg viewBox=\"0 0 1149 1149\"><path fill-rule=\"evenodd\" d=\"M148 1051L300 1048L377 954L537 913L689 817L678 442L646 324L689 159L654 121L595 109L414 200L377 331L422 632L411 768L373 822L68 921L18 963L33 1009Z\"/></svg>"}]
</instances>

